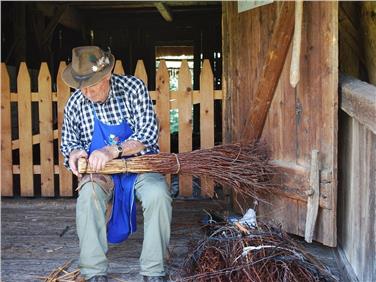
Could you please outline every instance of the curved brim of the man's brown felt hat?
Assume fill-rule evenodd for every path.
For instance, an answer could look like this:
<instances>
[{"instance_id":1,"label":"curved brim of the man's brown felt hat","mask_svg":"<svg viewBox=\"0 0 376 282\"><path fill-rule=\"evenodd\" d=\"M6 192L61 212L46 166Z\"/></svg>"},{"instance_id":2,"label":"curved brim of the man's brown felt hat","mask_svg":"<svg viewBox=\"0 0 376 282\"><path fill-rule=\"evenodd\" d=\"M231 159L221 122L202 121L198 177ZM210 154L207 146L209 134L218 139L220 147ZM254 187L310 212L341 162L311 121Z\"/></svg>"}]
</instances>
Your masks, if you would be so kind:
<instances>
[{"instance_id":1,"label":"curved brim of the man's brown felt hat","mask_svg":"<svg viewBox=\"0 0 376 282\"><path fill-rule=\"evenodd\" d=\"M93 73L88 79L77 80L72 75L72 63L70 63L63 71L61 78L68 86L72 88L83 88L92 86L101 81L108 73L112 71L115 65L115 57L110 54L110 63L104 67L101 71Z\"/></svg>"}]
</instances>

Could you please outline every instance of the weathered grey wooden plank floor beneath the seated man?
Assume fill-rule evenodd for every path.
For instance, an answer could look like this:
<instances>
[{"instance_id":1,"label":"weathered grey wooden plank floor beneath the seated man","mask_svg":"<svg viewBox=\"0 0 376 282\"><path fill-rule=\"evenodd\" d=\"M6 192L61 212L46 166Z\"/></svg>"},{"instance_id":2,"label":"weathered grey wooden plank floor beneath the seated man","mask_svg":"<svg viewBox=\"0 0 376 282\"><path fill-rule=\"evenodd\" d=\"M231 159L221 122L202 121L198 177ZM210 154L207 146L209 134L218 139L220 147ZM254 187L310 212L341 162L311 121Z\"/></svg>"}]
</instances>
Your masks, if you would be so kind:
<instances>
[{"instance_id":1,"label":"weathered grey wooden plank floor beneath the seated man","mask_svg":"<svg viewBox=\"0 0 376 282\"><path fill-rule=\"evenodd\" d=\"M77 268L75 202L75 199L2 199L1 281L41 281L38 276L47 276L68 260L73 260L70 271ZM219 211L224 205L211 200L174 200L173 207L169 271L183 261L189 240L202 237L199 222L203 209ZM138 231L126 242L110 245L110 281L142 281L138 274L143 238L140 205L137 222ZM333 249L319 244L307 245L307 249L340 278Z\"/></svg>"}]
</instances>

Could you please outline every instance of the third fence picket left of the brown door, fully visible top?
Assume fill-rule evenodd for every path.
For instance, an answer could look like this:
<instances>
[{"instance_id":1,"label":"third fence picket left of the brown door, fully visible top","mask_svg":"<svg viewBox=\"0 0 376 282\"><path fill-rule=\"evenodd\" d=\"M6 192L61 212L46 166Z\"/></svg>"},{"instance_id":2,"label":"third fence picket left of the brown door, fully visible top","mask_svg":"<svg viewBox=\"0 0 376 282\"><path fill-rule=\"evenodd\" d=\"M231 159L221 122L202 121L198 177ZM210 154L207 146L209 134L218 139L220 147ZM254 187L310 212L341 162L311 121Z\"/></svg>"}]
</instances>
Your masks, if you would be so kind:
<instances>
[{"instance_id":1,"label":"third fence picket left of the brown door, fully visible top","mask_svg":"<svg viewBox=\"0 0 376 282\"><path fill-rule=\"evenodd\" d=\"M170 78L165 60L161 60L156 74L156 113L159 120L161 152L170 152Z\"/></svg>"}]
</instances>

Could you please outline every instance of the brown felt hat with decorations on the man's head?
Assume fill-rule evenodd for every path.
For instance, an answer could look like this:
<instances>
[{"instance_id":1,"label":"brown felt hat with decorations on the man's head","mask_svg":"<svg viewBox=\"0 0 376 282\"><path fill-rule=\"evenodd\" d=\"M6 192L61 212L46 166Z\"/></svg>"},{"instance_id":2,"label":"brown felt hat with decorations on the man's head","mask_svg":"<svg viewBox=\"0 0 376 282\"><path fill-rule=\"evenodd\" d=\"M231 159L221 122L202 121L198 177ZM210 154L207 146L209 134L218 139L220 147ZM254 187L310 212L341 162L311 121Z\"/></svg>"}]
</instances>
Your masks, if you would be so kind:
<instances>
[{"instance_id":1,"label":"brown felt hat with decorations on the man's head","mask_svg":"<svg viewBox=\"0 0 376 282\"><path fill-rule=\"evenodd\" d=\"M96 84L109 74L115 64L114 56L97 46L73 48L72 63L63 71L63 81L73 88Z\"/></svg>"}]
</instances>

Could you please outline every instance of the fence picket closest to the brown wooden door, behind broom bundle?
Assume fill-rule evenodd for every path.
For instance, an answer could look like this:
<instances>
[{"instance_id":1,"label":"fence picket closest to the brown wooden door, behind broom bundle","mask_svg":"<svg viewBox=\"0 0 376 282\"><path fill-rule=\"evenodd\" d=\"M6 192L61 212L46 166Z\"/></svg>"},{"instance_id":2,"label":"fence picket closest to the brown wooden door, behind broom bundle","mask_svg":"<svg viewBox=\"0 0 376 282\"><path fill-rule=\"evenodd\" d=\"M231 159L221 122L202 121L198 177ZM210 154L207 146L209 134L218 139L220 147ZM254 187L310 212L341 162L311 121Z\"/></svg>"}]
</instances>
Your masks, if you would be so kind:
<instances>
[{"instance_id":1,"label":"fence picket closest to the brown wooden door, behind broom bundle","mask_svg":"<svg viewBox=\"0 0 376 282\"><path fill-rule=\"evenodd\" d=\"M214 86L213 71L209 60L204 60L200 74L200 139L201 149L214 146ZM214 195L214 182L201 178L201 192Z\"/></svg>"}]
</instances>

